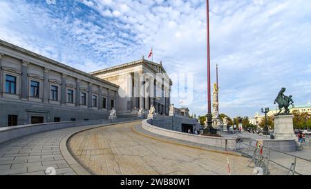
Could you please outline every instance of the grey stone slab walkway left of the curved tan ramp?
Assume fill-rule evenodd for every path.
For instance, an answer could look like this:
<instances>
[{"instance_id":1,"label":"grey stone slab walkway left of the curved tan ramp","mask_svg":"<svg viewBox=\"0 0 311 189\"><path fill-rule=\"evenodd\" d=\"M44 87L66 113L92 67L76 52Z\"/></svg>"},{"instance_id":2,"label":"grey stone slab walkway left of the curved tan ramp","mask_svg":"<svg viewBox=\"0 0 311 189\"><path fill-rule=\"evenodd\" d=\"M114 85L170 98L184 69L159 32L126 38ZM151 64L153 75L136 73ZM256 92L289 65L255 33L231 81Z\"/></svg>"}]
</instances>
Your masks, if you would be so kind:
<instances>
[{"instance_id":1,"label":"grey stone slab walkway left of the curved tan ramp","mask_svg":"<svg viewBox=\"0 0 311 189\"><path fill-rule=\"evenodd\" d=\"M70 132L92 127L41 132L1 143L0 175L46 175L48 167L55 168L57 175L75 175L62 157L59 143Z\"/></svg>"}]
</instances>

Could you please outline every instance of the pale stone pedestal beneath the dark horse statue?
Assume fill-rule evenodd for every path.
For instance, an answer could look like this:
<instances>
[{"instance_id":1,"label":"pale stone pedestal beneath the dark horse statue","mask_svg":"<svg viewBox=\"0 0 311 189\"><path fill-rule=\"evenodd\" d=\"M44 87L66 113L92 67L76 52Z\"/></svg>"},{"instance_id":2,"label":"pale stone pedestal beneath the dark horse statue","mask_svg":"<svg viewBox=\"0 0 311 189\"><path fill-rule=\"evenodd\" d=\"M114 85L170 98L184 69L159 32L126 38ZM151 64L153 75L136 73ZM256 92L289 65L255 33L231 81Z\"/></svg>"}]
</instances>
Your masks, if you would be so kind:
<instances>
[{"instance_id":1,"label":"pale stone pedestal beneath the dark horse statue","mask_svg":"<svg viewBox=\"0 0 311 189\"><path fill-rule=\"evenodd\" d=\"M274 117L274 136L276 139L296 139L292 119L292 115L276 115Z\"/></svg>"}]
</instances>

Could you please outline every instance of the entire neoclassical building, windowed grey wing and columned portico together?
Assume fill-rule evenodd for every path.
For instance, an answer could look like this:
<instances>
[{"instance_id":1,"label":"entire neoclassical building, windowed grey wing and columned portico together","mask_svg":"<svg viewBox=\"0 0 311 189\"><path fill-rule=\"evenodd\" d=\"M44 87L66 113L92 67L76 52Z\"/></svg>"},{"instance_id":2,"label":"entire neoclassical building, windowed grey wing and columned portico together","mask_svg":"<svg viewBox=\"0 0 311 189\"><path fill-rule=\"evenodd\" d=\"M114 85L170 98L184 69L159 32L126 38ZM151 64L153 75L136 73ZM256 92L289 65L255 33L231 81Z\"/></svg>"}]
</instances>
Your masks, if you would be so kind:
<instances>
[{"instance_id":1,"label":"entire neoclassical building, windowed grey wing and columned portico together","mask_svg":"<svg viewBox=\"0 0 311 189\"><path fill-rule=\"evenodd\" d=\"M144 58L86 73L0 40L0 127L108 119L112 108L169 115L171 85L162 63Z\"/></svg>"}]
</instances>

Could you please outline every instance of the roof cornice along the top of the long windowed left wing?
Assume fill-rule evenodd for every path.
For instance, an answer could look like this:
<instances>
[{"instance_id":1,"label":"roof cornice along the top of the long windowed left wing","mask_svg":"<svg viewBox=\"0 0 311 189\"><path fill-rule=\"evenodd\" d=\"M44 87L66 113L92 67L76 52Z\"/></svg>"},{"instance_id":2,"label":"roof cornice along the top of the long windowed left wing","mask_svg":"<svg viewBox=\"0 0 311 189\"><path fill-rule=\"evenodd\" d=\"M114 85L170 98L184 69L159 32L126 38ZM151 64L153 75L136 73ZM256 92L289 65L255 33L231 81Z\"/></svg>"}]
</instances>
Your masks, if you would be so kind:
<instances>
[{"instance_id":1,"label":"roof cornice along the top of the long windowed left wing","mask_svg":"<svg viewBox=\"0 0 311 189\"><path fill-rule=\"evenodd\" d=\"M97 81L101 81L101 82L106 83L106 84L108 84L108 85L110 85L110 86L113 86L113 87L116 87L116 88L119 88L119 87L120 87L120 86L115 85L114 83L111 83L111 82L106 81L106 80L104 80L104 79L100 79L100 78L98 78L98 77L95 77L95 76L93 76L93 75L91 75L91 74L88 74L88 73L86 73L86 72L83 72L83 71L81 71L81 70L77 70L76 68L67 66L67 65L64 64L64 63L60 63L60 62L55 61L55 60L53 60L53 59L49 59L48 57L44 57L44 56L42 56L42 55L40 55L40 54L37 54L37 53L35 53L35 52L31 52L30 50L26 50L26 49L21 48L21 47L19 47L19 46L15 46L14 44L8 43L8 42L3 41L3 40L1 40L1 39L0 39L0 45L6 46L7 48L11 48L11 49L17 50L17 51L22 52L22 53L24 53L24 54L28 54L29 56L35 57L35 58L37 58L37 59L41 59L41 60L43 60L43 61L47 61L48 63L52 63L52 64L54 64L55 66L59 66L59 67L65 68L65 69L67 69L67 70L72 70L72 71L74 71L74 72L77 72L77 73L79 73L79 74L84 75L85 77L89 77L89 78L91 78L91 79L95 79L95 80L97 80ZM31 62L31 61L30 61L30 62Z\"/></svg>"}]
</instances>

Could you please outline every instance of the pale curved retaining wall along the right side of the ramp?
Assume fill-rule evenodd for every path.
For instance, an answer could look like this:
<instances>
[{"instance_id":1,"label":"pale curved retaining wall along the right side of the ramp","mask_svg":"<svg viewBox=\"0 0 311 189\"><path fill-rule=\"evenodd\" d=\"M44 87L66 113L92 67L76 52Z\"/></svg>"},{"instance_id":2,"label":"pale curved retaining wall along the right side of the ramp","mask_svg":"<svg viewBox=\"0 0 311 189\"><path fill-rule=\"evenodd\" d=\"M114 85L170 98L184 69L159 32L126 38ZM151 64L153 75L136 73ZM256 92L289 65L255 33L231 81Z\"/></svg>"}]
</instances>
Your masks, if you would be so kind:
<instances>
[{"instance_id":1,"label":"pale curved retaining wall along the right side of the ramp","mask_svg":"<svg viewBox=\"0 0 311 189\"><path fill-rule=\"evenodd\" d=\"M218 148L225 149L226 141L227 141L227 149L233 150L236 145L236 139L232 138L218 138L218 137L206 137L201 135L191 135L184 132L177 132L173 130L167 130L164 128L159 128L156 126L152 126L152 119L143 120L142 128L148 130L149 132L153 132L158 135L162 135L165 137L171 137L174 139L180 139L184 141L191 141L194 143L202 143L209 146L215 146Z\"/></svg>"}]
</instances>

